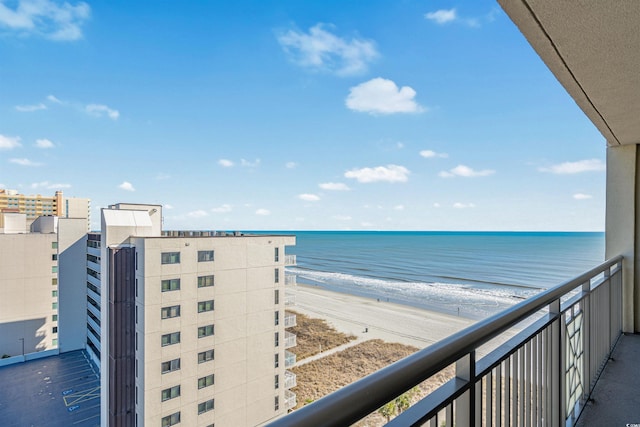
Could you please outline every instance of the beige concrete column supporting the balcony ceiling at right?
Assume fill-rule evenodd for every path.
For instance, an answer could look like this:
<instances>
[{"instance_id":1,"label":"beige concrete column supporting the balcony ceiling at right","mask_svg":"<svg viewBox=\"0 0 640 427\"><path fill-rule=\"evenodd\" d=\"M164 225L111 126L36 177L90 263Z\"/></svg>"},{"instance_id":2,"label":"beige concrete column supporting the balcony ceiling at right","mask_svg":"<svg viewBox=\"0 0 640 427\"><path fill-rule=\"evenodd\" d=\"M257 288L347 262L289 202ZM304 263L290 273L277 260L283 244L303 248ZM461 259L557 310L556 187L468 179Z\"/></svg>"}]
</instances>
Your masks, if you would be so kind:
<instances>
[{"instance_id":1,"label":"beige concrete column supporting the balcony ceiling at right","mask_svg":"<svg viewBox=\"0 0 640 427\"><path fill-rule=\"evenodd\" d=\"M622 330L640 331L638 315L638 155L636 145L607 148L607 212L605 258L624 256L622 284Z\"/></svg>"}]
</instances>

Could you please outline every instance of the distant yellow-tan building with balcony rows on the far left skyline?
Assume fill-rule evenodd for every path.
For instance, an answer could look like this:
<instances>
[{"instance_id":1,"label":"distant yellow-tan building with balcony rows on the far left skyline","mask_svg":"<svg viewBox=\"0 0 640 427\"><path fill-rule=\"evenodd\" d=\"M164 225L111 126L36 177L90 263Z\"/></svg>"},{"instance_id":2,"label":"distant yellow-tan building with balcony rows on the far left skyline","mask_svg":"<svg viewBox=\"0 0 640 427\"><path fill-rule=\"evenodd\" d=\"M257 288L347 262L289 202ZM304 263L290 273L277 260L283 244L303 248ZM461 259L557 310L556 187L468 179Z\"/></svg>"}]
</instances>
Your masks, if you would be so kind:
<instances>
[{"instance_id":1,"label":"distant yellow-tan building with balcony rows on the far left skyline","mask_svg":"<svg viewBox=\"0 0 640 427\"><path fill-rule=\"evenodd\" d=\"M91 224L91 201L84 198L64 197L56 191L53 197L19 194L16 190L0 189L0 213L23 213L30 225L40 216L59 218L85 218L88 231ZM0 216L0 229L4 228Z\"/></svg>"}]
</instances>

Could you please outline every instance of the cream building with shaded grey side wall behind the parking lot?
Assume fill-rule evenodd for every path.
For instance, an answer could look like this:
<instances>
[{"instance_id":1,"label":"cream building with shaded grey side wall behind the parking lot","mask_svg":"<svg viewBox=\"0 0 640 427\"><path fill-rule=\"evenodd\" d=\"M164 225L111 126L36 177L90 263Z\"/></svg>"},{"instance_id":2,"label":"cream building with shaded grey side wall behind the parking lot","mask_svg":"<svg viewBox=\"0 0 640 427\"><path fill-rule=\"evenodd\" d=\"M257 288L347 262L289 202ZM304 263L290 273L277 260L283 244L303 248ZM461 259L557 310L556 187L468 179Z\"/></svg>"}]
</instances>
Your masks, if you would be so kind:
<instances>
[{"instance_id":1,"label":"cream building with shaded grey side wall behind the parking lot","mask_svg":"<svg viewBox=\"0 0 640 427\"><path fill-rule=\"evenodd\" d=\"M0 356L24 359L83 348L76 305L85 292L78 264L85 219L43 216L27 226L24 213L0 218Z\"/></svg>"}]
</instances>

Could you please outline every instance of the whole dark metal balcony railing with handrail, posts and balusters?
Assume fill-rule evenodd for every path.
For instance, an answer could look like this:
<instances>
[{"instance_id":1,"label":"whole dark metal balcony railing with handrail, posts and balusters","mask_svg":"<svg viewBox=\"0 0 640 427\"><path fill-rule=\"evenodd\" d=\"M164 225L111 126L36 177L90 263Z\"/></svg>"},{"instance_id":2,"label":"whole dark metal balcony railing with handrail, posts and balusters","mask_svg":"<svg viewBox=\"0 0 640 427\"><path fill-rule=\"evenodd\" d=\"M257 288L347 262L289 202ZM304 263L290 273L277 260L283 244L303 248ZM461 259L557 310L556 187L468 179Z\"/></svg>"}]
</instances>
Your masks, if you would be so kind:
<instances>
[{"instance_id":1,"label":"whole dark metal balcony railing with handrail, posts and balusters","mask_svg":"<svg viewBox=\"0 0 640 427\"><path fill-rule=\"evenodd\" d=\"M476 360L481 346L517 327ZM621 331L622 257L616 257L270 425L351 425L455 364L453 379L387 425L572 426Z\"/></svg>"}]
</instances>

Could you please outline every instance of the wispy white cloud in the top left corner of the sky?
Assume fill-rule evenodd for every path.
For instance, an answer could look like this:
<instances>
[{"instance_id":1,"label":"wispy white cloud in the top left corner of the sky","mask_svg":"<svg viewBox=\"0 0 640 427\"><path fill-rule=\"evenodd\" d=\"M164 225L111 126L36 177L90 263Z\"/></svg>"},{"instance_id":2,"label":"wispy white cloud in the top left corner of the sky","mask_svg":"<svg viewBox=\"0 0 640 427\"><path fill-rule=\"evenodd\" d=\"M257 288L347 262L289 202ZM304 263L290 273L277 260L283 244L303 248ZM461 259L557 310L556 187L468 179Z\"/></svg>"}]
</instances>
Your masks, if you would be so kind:
<instances>
[{"instance_id":1,"label":"wispy white cloud in the top left corner of the sky","mask_svg":"<svg viewBox=\"0 0 640 427\"><path fill-rule=\"evenodd\" d=\"M15 9L0 2L0 28L17 35L34 34L51 40L78 40L81 26L89 19L91 8L87 3L76 5L51 0L18 0Z\"/></svg>"}]
</instances>

